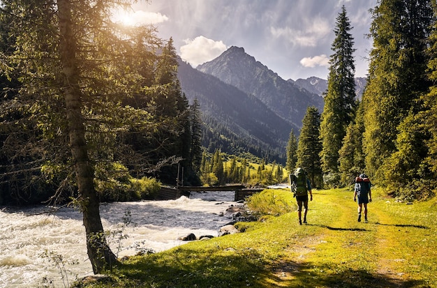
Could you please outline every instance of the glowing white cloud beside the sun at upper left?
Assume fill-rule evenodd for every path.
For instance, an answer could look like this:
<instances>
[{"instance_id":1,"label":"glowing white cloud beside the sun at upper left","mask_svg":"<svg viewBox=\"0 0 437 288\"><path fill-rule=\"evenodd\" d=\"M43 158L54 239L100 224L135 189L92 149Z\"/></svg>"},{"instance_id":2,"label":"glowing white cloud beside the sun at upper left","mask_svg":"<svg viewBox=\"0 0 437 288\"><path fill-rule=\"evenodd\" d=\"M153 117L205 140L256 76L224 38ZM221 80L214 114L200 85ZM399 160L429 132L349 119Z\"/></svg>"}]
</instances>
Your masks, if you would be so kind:
<instances>
[{"instance_id":1,"label":"glowing white cloud beside the sun at upper left","mask_svg":"<svg viewBox=\"0 0 437 288\"><path fill-rule=\"evenodd\" d=\"M148 12L143 10L128 13L126 11L119 11L114 13L115 22L121 22L128 26L142 25L142 24L159 24L168 21L168 17L161 13Z\"/></svg>"}]
</instances>

